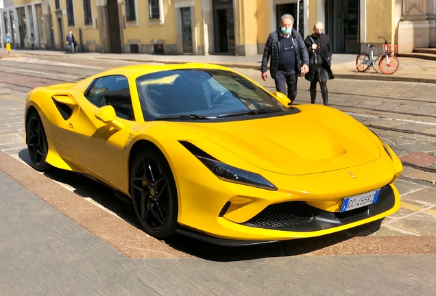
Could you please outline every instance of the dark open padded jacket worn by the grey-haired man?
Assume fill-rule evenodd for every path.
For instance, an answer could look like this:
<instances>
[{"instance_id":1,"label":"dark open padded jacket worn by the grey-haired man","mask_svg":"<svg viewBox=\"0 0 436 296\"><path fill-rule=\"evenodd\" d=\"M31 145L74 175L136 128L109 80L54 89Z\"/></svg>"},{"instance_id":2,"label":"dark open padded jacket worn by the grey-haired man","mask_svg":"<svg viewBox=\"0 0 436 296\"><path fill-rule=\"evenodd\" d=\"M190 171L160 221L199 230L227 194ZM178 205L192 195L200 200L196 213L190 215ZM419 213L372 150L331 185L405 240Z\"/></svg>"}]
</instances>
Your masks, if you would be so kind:
<instances>
[{"instance_id":1,"label":"dark open padded jacket worn by the grey-haired man","mask_svg":"<svg viewBox=\"0 0 436 296\"><path fill-rule=\"evenodd\" d=\"M300 33L292 29L292 42L295 49L295 56L297 57L297 62L295 64L297 74L300 75L300 68L303 64L308 65L308 52L306 46L304 45L304 40ZM276 74L278 71L278 56L280 55L280 38L284 38L280 31L272 32L269 34L267 43L265 44L265 49L263 51L261 72L267 71L267 64L269 57L271 57L271 63L269 64L269 73L271 77L276 79Z\"/></svg>"}]
</instances>

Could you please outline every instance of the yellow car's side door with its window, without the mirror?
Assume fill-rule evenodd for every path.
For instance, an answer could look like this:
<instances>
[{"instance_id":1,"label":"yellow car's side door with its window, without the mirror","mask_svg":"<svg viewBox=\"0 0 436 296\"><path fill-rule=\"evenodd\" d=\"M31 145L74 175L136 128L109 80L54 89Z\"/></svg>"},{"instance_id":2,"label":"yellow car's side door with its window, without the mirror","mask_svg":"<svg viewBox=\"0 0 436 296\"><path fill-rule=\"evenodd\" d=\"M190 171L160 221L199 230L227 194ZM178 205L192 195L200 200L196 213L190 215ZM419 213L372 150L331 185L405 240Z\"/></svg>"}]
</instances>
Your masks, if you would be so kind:
<instances>
[{"instance_id":1,"label":"yellow car's side door with its window, without the mirror","mask_svg":"<svg viewBox=\"0 0 436 296\"><path fill-rule=\"evenodd\" d=\"M75 162L99 180L126 190L128 156L125 145L136 125L128 78L110 75L95 79L77 101L80 111L70 119L68 133ZM114 109L117 127L96 116L105 106Z\"/></svg>"}]
</instances>

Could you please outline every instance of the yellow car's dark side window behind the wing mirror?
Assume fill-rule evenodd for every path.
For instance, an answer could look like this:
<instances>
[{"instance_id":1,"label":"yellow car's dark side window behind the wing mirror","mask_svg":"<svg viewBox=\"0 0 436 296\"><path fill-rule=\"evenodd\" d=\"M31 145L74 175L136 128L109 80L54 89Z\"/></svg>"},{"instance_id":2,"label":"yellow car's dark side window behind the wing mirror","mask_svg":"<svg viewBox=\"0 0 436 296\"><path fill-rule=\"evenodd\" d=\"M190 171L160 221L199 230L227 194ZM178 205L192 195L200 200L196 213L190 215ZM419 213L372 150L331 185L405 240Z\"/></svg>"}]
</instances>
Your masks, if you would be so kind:
<instances>
[{"instance_id":1,"label":"yellow car's dark side window behind the wing mirror","mask_svg":"<svg viewBox=\"0 0 436 296\"><path fill-rule=\"evenodd\" d=\"M129 82L125 76L112 75L95 79L86 90L85 97L97 107L110 105L117 116L134 121Z\"/></svg>"}]
</instances>

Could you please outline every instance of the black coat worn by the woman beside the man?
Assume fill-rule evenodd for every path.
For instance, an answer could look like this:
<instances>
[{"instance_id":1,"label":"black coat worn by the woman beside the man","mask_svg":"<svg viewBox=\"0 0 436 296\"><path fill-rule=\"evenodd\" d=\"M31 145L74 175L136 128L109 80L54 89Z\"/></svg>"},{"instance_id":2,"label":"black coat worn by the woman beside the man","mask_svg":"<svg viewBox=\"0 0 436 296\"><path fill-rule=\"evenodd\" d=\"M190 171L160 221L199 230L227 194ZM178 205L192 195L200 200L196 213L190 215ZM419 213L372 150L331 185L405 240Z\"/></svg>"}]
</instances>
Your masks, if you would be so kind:
<instances>
[{"instance_id":1,"label":"black coat worn by the woman beside the man","mask_svg":"<svg viewBox=\"0 0 436 296\"><path fill-rule=\"evenodd\" d=\"M317 49L315 52L312 49L313 42L311 37L317 45ZM315 60L313 56L315 55L315 53L317 53L318 57L322 59L322 67L326 69L328 77L330 77L330 79L335 78L333 76L332 69L330 68L332 66L333 53L332 45L330 43L330 37L328 37L328 35L326 34L321 34L319 36L312 34L306 37L306 40L304 40L304 44L306 45L309 54L309 71L306 74L306 79L312 80L313 73L316 69L316 65L313 64L313 61Z\"/></svg>"}]
</instances>

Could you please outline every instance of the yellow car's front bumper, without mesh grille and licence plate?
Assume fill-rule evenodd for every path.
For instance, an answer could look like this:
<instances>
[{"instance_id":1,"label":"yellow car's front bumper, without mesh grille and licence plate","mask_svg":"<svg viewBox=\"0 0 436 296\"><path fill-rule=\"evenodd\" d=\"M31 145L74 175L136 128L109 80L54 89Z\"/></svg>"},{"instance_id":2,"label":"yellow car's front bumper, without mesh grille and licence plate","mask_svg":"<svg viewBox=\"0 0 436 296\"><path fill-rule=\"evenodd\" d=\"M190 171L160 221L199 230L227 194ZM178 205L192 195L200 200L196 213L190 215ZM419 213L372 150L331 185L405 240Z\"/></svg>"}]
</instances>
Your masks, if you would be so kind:
<instances>
[{"instance_id":1,"label":"yellow car's front bumper, without mesh grille and licence plate","mask_svg":"<svg viewBox=\"0 0 436 296\"><path fill-rule=\"evenodd\" d=\"M252 241L322 236L383 219L400 207L400 195L392 183L402 168L387 155L358 167L312 175L282 175L235 165L263 175L277 186L273 191L219 180L193 154L184 151L178 151L183 157L173 158L171 163L178 187L178 222L202 236ZM345 197L384 186L389 190L384 200L339 213ZM279 227L253 223L267 208L295 202L308 207L310 217L305 223Z\"/></svg>"}]
</instances>

